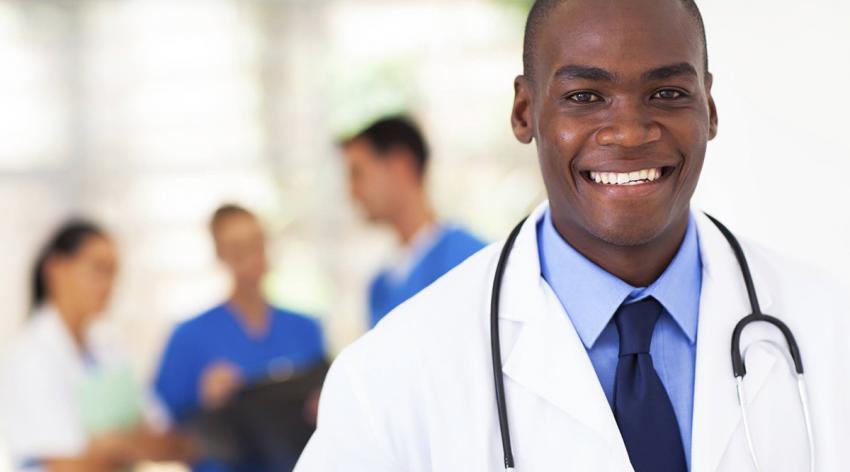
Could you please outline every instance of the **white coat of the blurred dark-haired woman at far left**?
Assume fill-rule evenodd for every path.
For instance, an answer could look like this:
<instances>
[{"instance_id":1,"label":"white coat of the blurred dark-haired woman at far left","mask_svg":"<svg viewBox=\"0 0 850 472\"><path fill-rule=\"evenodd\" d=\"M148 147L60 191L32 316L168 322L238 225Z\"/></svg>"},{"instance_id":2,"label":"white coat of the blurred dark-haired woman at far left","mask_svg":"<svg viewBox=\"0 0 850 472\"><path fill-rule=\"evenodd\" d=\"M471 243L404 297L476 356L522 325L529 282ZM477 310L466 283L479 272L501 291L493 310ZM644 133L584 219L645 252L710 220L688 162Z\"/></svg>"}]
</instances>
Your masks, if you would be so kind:
<instances>
[{"instance_id":1,"label":"white coat of the blurred dark-haired woman at far left","mask_svg":"<svg viewBox=\"0 0 850 472\"><path fill-rule=\"evenodd\" d=\"M89 376L129 369L129 363L110 327L92 327L86 338L88 363L59 314L45 305L3 349L0 433L14 470L40 470L27 463L76 457L87 449L91 437L80 410L80 389Z\"/></svg>"}]
</instances>

